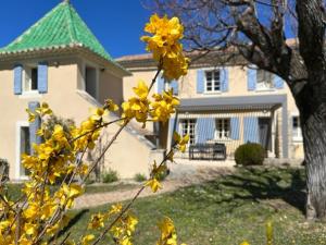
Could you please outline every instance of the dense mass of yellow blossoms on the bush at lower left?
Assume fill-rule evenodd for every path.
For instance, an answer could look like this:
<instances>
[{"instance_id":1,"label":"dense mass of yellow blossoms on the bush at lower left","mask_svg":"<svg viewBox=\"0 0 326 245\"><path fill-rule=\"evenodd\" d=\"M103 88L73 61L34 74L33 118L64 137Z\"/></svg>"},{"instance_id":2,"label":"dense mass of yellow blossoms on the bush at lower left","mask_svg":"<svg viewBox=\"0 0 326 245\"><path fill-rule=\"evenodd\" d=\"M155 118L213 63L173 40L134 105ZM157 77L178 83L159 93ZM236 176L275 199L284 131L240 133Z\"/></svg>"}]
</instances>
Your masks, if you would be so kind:
<instances>
[{"instance_id":1,"label":"dense mass of yellow blossoms on the bush at lower left","mask_svg":"<svg viewBox=\"0 0 326 245\"><path fill-rule=\"evenodd\" d=\"M34 144L33 155L23 155L22 164L28 171L29 181L22 188L22 201L7 200L0 193L0 244L38 244L45 236L54 235L67 218L64 210L73 207L76 197L84 193L82 183L74 183L73 176L85 175L88 166L76 156L92 148L105 125L104 117L115 111L116 105L108 100L103 108L97 108L79 127L72 126L67 132L55 124L52 130L42 123L37 135L42 143ZM29 122L41 122L52 114L47 103L35 111L27 110ZM61 183L50 192L50 186ZM117 210L117 209L116 209ZM18 233L17 233L18 232ZM90 241L84 237L83 243ZM42 242L42 244L47 244Z\"/></svg>"}]
</instances>

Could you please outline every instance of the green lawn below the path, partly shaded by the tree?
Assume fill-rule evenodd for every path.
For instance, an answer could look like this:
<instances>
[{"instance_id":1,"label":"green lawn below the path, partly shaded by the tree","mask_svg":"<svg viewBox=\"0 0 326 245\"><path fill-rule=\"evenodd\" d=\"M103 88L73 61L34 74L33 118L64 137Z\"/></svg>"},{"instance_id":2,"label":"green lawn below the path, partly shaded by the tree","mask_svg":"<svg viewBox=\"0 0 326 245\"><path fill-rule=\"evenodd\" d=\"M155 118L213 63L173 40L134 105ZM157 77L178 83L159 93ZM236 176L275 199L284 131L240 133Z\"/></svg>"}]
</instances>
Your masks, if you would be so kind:
<instances>
[{"instance_id":1,"label":"green lawn below the path, partly shaded by the tree","mask_svg":"<svg viewBox=\"0 0 326 245\"><path fill-rule=\"evenodd\" d=\"M137 200L139 218L135 244L155 244L156 223L164 216L176 224L180 242L188 245L265 244L265 222L274 223L274 245L326 244L323 223L304 220L304 171L298 169L238 169L235 174L172 194ZM75 210L68 230L83 235L91 213L108 206ZM66 232L65 231L65 232ZM113 244L108 238L102 244Z\"/></svg>"}]
</instances>

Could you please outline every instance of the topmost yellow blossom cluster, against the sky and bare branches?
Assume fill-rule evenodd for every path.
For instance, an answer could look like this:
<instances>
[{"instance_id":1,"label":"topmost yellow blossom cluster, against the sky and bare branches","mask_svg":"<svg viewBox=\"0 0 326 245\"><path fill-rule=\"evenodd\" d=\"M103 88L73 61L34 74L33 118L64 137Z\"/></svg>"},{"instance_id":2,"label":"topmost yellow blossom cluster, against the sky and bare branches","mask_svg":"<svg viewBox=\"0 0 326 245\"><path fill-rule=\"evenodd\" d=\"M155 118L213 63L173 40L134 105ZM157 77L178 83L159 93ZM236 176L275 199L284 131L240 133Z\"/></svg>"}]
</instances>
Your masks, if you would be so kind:
<instances>
[{"instance_id":1,"label":"topmost yellow blossom cluster, against the sky and bare branches","mask_svg":"<svg viewBox=\"0 0 326 245\"><path fill-rule=\"evenodd\" d=\"M184 37L184 26L177 17L160 17L154 14L146 25L145 32L153 36L142 36L147 50L162 65L163 76L167 81L178 79L187 74L189 59L183 53L179 40Z\"/></svg>"}]
</instances>

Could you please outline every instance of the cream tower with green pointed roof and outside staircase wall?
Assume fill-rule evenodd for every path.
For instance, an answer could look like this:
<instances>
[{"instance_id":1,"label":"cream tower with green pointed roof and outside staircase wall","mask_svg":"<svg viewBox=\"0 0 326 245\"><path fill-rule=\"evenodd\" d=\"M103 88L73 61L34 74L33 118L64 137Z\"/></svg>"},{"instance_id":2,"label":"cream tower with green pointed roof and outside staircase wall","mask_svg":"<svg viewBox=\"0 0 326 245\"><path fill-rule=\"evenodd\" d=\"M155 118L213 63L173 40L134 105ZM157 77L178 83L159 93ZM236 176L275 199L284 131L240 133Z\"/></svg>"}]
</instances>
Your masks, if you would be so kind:
<instances>
[{"instance_id":1,"label":"cream tower with green pointed roof and outside staircase wall","mask_svg":"<svg viewBox=\"0 0 326 245\"><path fill-rule=\"evenodd\" d=\"M10 179L26 177L22 154L30 154L39 125L28 123L26 108L50 105L57 115L78 125L90 109L111 98L123 101L123 77L130 75L104 50L68 1L63 1L13 42L0 49L0 158L10 163ZM109 115L108 120L118 117ZM105 128L99 146L86 160L102 152L118 124ZM130 147L133 146L133 147ZM154 145L137 128L127 127L109 149L101 168L121 177L149 173ZM126 154L127 151L127 154Z\"/></svg>"}]
</instances>

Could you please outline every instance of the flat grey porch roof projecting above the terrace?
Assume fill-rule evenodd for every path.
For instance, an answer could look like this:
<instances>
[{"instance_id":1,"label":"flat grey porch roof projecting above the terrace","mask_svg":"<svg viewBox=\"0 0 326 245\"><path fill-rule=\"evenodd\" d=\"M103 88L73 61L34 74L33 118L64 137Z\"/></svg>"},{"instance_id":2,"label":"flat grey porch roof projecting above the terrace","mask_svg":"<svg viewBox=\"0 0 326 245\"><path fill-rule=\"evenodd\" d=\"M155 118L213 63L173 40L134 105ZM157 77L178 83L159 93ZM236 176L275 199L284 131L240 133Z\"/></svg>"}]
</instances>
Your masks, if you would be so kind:
<instances>
[{"instance_id":1,"label":"flat grey porch roof projecting above the terrace","mask_svg":"<svg viewBox=\"0 0 326 245\"><path fill-rule=\"evenodd\" d=\"M180 99L178 111L275 110L281 107L286 99L286 95Z\"/></svg>"}]
</instances>

